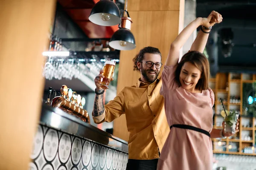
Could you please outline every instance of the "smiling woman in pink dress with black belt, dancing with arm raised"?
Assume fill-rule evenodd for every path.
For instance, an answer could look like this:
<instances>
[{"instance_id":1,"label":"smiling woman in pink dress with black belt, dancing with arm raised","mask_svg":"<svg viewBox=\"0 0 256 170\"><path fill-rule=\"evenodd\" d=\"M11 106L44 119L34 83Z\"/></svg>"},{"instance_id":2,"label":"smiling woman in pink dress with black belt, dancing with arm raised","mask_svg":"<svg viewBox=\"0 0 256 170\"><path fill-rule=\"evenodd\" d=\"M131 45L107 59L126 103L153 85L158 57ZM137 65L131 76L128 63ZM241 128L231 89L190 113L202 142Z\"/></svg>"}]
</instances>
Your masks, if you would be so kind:
<instances>
[{"instance_id":1,"label":"smiling woman in pink dress with black belt, dancing with arm raised","mask_svg":"<svg viewBox=\"0 0 256 170\"><path fill-rule=\"evenodd\" d=\"M160 90L164 97L170 132L161 152L157 170L212 169L210 138L225 135L222 130L212 128L212 106L215 97L213 91L208 88L209 62L202 52L212 26L221 21L221 15L215 11L207 18L197 18L186 26L170 45ZM180 48L199 26L201 31L190 52L178 63Z\"/></svg>"}]
</instances>

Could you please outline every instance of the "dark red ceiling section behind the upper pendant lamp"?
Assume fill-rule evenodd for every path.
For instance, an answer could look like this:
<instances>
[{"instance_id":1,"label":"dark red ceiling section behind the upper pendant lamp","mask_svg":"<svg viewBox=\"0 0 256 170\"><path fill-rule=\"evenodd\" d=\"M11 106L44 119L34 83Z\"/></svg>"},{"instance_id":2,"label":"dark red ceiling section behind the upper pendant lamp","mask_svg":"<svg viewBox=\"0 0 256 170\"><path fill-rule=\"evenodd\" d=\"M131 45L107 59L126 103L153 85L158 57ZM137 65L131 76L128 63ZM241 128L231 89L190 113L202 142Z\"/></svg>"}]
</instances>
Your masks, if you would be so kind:
<instances>
[{"instance_id":1,"label":"dark red ceiling section behind the upper pendant lamp","mask_svg":"<svg viewBox=\"0 0 256 170\"><path fill-rule=\"evenodd\" d=\"M99 0L58 0L64 11L84 31L89 38L111 38L118 30L116 26L99 26L88 19L90 11Z\"/></svg>"}]
</instances>

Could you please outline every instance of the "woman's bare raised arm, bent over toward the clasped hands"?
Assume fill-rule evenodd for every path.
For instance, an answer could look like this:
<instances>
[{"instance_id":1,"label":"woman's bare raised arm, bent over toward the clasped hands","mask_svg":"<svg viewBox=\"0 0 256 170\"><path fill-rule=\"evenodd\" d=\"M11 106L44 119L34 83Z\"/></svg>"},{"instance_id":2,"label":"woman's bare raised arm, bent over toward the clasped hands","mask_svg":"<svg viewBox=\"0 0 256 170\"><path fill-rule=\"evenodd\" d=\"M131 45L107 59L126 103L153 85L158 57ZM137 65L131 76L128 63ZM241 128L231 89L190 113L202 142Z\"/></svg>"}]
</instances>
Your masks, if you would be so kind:
<instances>
[{"instance_id":1,"label":"woman's bare raised arm, bent over toward the clasped hands","mask_svg":"<svg viewBox=\"0 0 256 170\"><path fill-rule=\"evenodd\" d=\"M180 48L184 45L186 40L188 40L190 35L193 33L193 31L195 31L196 28L198 28L198 26L203 25L207 28L213 26L215 23L212 22L212 18L213 15L209 15L209 17L207 18L198 17L197 19L192 21L188 26L186 26L186 28L184 28L177 36L177 38L172 42L165 65L176 65L179 60Z\"/></svg>"}]
</instances>

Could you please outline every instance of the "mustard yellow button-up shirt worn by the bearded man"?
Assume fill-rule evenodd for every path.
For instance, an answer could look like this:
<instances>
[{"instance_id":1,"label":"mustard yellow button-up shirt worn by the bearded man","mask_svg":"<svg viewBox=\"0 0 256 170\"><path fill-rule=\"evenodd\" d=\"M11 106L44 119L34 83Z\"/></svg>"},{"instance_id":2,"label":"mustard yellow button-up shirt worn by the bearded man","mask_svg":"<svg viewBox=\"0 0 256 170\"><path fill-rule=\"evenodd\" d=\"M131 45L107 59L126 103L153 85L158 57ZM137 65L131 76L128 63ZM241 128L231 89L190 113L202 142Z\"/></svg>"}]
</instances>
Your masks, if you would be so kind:
<instances>
[{"instance_id":1,"label":"mustard yellow button-up shirt worn by the bearded man","mask_svg":"<svg viewBox=\"0 0 256 170\"><path fill-rule=\"evenodd\" d=\"M138 80L136 85L125 87L107 105L105 112L93 117L95 123L112 122L125 114L129 133L129 159L159 158L163 144L169 134L164 111L163 96L159 91L162 80L151 85Z\"/></svg>"}]
</instances>

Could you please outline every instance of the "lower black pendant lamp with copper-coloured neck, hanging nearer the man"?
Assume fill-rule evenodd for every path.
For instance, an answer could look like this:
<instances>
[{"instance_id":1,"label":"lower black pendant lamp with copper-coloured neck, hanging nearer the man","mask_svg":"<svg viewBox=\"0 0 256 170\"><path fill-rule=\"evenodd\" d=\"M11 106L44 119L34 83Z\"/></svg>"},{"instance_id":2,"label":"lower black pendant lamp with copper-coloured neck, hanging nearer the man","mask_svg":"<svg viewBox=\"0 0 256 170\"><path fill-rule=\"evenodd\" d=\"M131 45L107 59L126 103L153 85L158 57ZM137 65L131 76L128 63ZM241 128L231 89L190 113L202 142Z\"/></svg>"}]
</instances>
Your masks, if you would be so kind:
<instances>
[{"instance_id":1,"label":"lower black pendant lamp with copper-coloured neck, hanging nearer the man","mask_svg":"<svg viewBox=\"0 0 256 170\"><path fill-rule=\"evenodd\" d=\"M127 0L125 3L125 12L128 17L122 17L121 26L119 26L119 30L117 30L111 37L109 46L116 50L132 50L136 48L135 39L133 34L131 33L131 18L127 11Z\"/></svg>"}]
</instances>

